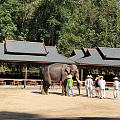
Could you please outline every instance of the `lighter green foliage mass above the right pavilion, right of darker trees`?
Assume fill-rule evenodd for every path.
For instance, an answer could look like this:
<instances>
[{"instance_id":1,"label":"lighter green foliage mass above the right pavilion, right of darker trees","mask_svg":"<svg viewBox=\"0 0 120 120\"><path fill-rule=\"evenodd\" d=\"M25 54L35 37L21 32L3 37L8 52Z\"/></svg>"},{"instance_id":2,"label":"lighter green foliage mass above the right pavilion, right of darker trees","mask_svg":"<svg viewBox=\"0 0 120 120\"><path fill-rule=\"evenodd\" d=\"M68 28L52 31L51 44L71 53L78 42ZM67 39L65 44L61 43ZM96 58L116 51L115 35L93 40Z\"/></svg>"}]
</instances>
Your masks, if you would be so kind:
<instances>
[{"instance_id":1,"label":"lighter green foliage mass above the right pavilion, right of darker trees","mask_svg":"<svg viewBox=\"0 0 120 120\"><path fill-rule=\"evenodd\" d=\"M71 6L72 14L58 41L60 53L69 55L72 49L81 47L119 46L120 7L117 1L73 0Z\"/></svg>"}]
</instances>

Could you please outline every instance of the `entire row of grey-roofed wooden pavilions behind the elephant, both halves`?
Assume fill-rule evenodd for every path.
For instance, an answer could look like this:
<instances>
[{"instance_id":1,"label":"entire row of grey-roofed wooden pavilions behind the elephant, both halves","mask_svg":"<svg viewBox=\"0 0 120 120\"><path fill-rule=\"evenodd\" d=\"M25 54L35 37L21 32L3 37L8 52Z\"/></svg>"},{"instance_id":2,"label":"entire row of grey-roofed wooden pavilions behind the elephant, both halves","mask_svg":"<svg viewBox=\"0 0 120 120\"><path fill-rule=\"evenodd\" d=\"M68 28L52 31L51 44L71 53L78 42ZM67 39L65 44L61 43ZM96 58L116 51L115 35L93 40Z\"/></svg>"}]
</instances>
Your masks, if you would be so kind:
<instances>
[{"instance_id":1,"label":"entire row of grey-roofed wooden pavilions behind the elephant, both halves","mask_svg":"<svg viewBox=\"0 0 120 120\"><path fill-rule=\"evenodd\" d=\"M73 50L68 58L58 54L55 46L45 46L40 42L5 40L0 43L0 63L24 66L26 87L27 67L30 64L47 65L52 63L76 64L79 67L81 80L87 74L120 75L120 49L97 47L96 49L82 48ZM21 71L21 69L19 70Z\"/></svg>"}]
</instances>

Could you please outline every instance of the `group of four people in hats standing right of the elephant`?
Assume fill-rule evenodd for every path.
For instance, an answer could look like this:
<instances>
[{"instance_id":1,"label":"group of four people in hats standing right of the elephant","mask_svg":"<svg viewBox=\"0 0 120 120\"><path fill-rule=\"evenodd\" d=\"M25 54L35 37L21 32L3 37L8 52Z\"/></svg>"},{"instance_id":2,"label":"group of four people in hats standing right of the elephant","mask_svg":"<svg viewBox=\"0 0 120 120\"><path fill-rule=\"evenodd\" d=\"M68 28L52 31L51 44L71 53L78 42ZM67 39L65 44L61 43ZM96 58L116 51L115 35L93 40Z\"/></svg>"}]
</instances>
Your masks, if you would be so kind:
<instances>
[{"instance_id":1,"label":"group of four people in hats standing right of the elephant","mask_svg":"<svg viewBox=\"0 0 120 120\"><path fill-rule=\"evenodd\" d=\"M105 99L105 85L106 81L103 79L103 76L97 76L95 78L95 81L93 82L93 77L91 75L87 75L87 79L85 80L85 88L86 88L86 94L88 97L93 97L93 86L95 87L95 94L96 97L99 97L101 99ZM114 99L118 99L119 96L119 87L120 82L118 77L113 78L114 80Z\"/></svg>"}]
</instances>

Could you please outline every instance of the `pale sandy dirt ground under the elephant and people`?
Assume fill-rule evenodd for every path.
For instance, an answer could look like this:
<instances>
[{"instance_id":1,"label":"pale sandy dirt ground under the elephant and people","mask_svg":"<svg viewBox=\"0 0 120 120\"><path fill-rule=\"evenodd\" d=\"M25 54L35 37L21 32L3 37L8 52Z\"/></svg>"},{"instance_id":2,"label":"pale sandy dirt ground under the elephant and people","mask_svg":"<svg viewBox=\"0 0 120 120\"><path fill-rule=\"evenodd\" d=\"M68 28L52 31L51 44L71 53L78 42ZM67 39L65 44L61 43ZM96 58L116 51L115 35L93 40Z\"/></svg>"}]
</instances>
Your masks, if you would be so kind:
<instances>
[{"instance_id":1,"label":"pale sandy dirt ground under the elephant and people","mask_svg":"<svg viewBox=\"0 0 120 120\"><path fill-rule=\"evenodd\" d=\"M75 97L61 96L61 89L41 95L38 88L0 87L0 118L120 117L120 99L106 91L106 99L88 98L74 88Z\"/></svg>"}]
</instances>

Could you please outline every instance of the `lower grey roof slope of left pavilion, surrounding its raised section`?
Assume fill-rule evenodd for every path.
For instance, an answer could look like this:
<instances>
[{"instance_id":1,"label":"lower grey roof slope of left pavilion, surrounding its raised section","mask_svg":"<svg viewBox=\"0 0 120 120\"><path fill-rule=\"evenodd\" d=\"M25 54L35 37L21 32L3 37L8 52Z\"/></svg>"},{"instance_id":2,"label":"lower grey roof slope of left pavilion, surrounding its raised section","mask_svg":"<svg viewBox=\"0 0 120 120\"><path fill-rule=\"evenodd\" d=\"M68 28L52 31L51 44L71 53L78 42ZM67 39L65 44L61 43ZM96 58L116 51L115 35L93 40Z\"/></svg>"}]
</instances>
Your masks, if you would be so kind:
<instances>
[{"instance_id":1,"label":"lower grey roof slope of left pavilion, surrounding its raised section","mask_svg":"<svg viewBox=\"0 0 120 120\"><path fill-rule=\"evenodd\" d=\"M57 53L57 49L54 46L46 46L48 54L46 56L34 56L34 55L13 55L5 54L4 43L0 43L0 61L4 62L34 62L34 63L75 63L72 60Z\"/></svg>"}]
</instances>

